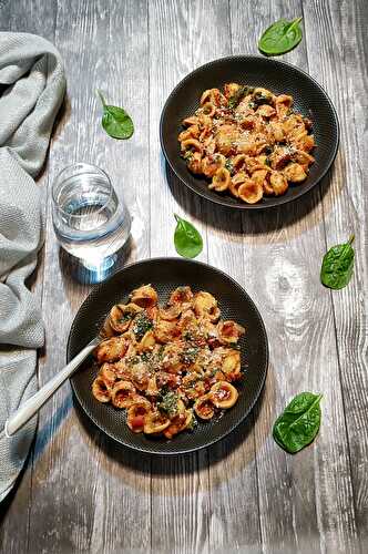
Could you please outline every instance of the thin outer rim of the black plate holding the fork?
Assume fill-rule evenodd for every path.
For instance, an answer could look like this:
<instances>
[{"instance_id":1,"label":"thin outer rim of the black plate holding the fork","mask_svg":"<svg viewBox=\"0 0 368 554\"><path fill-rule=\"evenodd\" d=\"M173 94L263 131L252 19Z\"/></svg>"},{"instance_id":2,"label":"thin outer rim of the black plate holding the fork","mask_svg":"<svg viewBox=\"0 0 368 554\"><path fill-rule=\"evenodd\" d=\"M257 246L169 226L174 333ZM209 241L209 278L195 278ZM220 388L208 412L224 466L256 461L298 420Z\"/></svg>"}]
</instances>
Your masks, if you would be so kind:
<instances>
[{"instance_id":1,"label":"thin outer rim of the black plate holding the fork","mask_svg":"<svg viewBox=\"0 0 368 554\"><path fill-rule=\"evenodd\" d=\"M209 268L211 270L217 271L218 274L221 274L222 277L225 277L225 278L229 279L236 287L239 287L242 289L243 294L246 296L247 300L253 306L253 309L255 310L255 312L256 312L256 315L258 317L259 324L260 324L260 328L262 328L262 331L263 331L263 338L264 338L264 346L265 346L265 370L264 370L263 378L260 380L259 387L257 389L257 392L255 394L255 399L249 404L249 407L247 408L247 410L244 412L244 414L243 414L243 417L241 418L239 421L237 421L236 423L233 423L226 432L223 432L222 434L216 435L215 438L213 438L212 440L209 440L205 444L202 444L200 447L192 447L192 448L188 448L188 449L183 449L182 448L182 449L178 449L178 450L175 450L175 451L149 450L144 445L142 445L140 448L136 448L136 447L134 447L132 444L126 444L125 442L120 441L119 439L116 439L116 437L114 437L113 434L109 433L105 429L103 429L100 425L100 423L95 420L95 418L93 417L93 414L90 414L89 411L86 410L86 408L83 406L83 402L81 401L80 396L79 396L79 393L78 393L78 391L75 390L75 387L74 387L74 382L73 382L73 376L74 376L74 373L69 378L69 382L70 382L71 389L72 389L73 396L78 400L79 407L82 409L82 411L88 417L88 419L98 429L100 429L100 431L102 431L104 434L106 434L114 442L119 443L121 447L129 448L129 449L133 450L134 452L141 452L141 453L144 452L144 454L162 455L162 456L166 456L166 455L173 456L173 455L182 455L182 454L190 454L190 453L193 453L193 452L197 452L197 451L200 451L202 449L212 447L216 442L218 442L222 439L224 439L225 437L229 435L239 424L242 424L249 417L251 412L254 410L256 403L258 402L258 400L260 398L262 391L263 391L263 389L265 387L265 382L266 382L266 378L267 378L267 373L268 373L268 367L269 367L269 345L268 345L268 336L267 336L267 330L266 330L266 327L265 327L265 322L263 320L263 317L262 317L262 315L260 315L260 312L259 312L256 304L251 298L251 296L248 295L248 293L244 289L244 287L239 283L237 283L231 275L226 274L222 269L218 269L217 267L214 267L214 266L212 266L209 264L206 264L204 261L194 260L194 259L187 259L187 258L180 258L180 257L174 257L174 256L172 256L172 257L164 257L163 256L163 257L145 258L145 259L142 259L142 260L139 260L139 261L133 261L133 263L131 263L131 264L129 264L129 265L126 265L126 266L117 269L116 271L114 271L106 280L104 280L104 281L95 285L90 290L90 293L88 294L88 296L84 298L83 302L80 305L76 314L73 317L72 324L70 326L70 330L69 330L69 335L68 335L68 340L67 340L67 363L69 363L71 361L71 359L72 359L72 358L69 357L69 349L70 349L70 343L71 343L72 331L73 331L73 329L74 329L74 327L76 325L76 318L78 318L80 311L82 310L83 306L88 301L90 301L91 295L92 294L98 294L100 291L100 289L102 289L102 287L106 286L111 279L113 279L119 274L123 274L126 269L130 269L132 267L136 267L136 266L140 266L140 265L144 265L144 264L147 264L147 263L163 263L163 261L167 261L167 260L171 261L171 263L172 261L174 261L174 263L180 261L180 263L194 264L194 265L197 265L197 266L205 266L205 267ZM83 346L81 347L81 349L82 348L83 348ZM76 369L75 372L78 370L79 369Z\"/></svg>"}]
</instances>

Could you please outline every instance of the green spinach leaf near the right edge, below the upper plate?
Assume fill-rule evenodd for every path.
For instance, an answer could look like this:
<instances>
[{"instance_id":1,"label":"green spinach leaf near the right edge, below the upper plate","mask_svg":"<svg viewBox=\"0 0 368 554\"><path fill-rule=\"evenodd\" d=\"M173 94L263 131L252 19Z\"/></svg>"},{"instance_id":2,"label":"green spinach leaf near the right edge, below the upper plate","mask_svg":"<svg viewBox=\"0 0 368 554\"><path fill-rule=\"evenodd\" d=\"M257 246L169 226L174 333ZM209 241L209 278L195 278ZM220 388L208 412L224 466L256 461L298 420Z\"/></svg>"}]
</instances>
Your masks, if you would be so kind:
<instances>
[{"instance_id":1,"label":"green spinach leaf near the right edge, below the upper plate","mask_svg":"<svg viewBox=\"0 0 368 554\"><path fill-rule=\"evenodd\" d=\"M354 235L348 243L333 246L323 259L320 280L325 287L339 289L347 286L354 269Z\"/></svg>"}]
</instances>

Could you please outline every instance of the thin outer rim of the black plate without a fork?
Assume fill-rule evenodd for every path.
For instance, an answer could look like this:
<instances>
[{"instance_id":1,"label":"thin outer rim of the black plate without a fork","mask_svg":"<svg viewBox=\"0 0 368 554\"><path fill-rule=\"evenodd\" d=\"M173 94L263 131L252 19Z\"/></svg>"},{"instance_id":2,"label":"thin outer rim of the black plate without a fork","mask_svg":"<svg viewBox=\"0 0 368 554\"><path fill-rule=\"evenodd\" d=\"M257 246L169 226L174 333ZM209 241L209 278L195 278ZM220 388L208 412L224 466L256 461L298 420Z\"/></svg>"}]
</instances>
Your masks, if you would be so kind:
<instances>
[{"instance_id":1,"label":"thin outer rim of the black plate without a fork","mask_svg":"<svg viewBox=\"0 0 368 554\"><path fill-rule=\"evenodd\" d=\"M279 64L279 65L285 65L287 68L292 68L293 70L296 70L298 72L300 72L303 75L305 75L307 79L309 79L316 86L317 89L319 89L319 91L321 92L321 94L325 95L325 98L327 99L327 102L331 109L331 112L333 112L333 115L334 115L334 120L335 120L335 124L336 124L336 132L337 132L337 138L336 138L336 144L335 144L335 148L334 148L334 152L333 152L333 156L331 156L331 161L330 163L328 164L328 166L321 172L318 181L316 183L314 183L313 185L310 185L309 187L306 186L304 188L300 188L300 192L295 195L295 196L287 196L287 195L283 195L283 196L279 196L279 202L277 204L246 204L244 203L243 204L224 204L222 202L222 196L218 196L218 197L208 197L205 195L204 192L202 191L197 191L194 188L194 186L192 186L191 183L184 181L176 172L175 167L174 167L174 164L172 164L171 160L170 160L170 156L167 155L167 152L166 152L166 148L165 148L165 145L164 145L164 138L163 138L163 121L164 121L164 115L165 115L165 112L167 110L167 106L168 106L168 103L170 101L172 100L172 98L175 95L176 91L185 83L186 80L188 80L193 74L195 74L196 72L198 71L202 71L203 69L207 68L207 66L211 66L213 65L214 63L217 63L217 62L229 62L229 61L234 61L234 60L238 60L239 62L241 61L244 61L245 59L252 59L252 60L263 60L263 61L266 61L266 62L274 62L276 64ZM336 107L329 96L329 94L326 92L326 90L318 83L318 81L316 81L315 78L313 78L309 73L307 73L305 70L298 68L297 65L294 65L293 63L289 63L289 62L286 62L284 60L276 60L275 58L267 58L267 57L264 57L264 55L256 55L256 54L235 54L235 55L225 55L223 58L216 58L215 60L212 60L209 62L206 62L197 68L195 68L193 71L191 71L190 73L187 73L175 86L174 89L171 91L171 93L168 94L163 107L162 107L162 111L161 111L161 116L160 116L160 144L161 144L161 150L164 154L164 157L165 157L165 161L166 163L168 164L170 168L172 170L172 172L176 175L176 177L178 178L178 181L181 183L183 183L186 187L188 187L194 194L197 194L198 196L201 196L201 198L204 198L205 201L207 202L213 202L214 204L217 204L219 206L222 206L223 208L229 208L229 209L258 209L258 211L263 211L263 209L270 209L270 208L277 208L278 206L283 206L285 204L288 204L289 202L294 202L294 201L297 201L299 199L301 196L304 196L305 194L309 193L313 188L315 188L317 185L320 184L320 182L323 181L323 178L326 177L327 173L329 172L329 170L331 168L335 160L336 160L336 156L337 156L337 153L338 153L338 148L339 148L339 145L340 145L340 122L339 122L339 119L338 119L338 114L337 114L337 111L336 111Z\"/></svg>"}]
</instances>

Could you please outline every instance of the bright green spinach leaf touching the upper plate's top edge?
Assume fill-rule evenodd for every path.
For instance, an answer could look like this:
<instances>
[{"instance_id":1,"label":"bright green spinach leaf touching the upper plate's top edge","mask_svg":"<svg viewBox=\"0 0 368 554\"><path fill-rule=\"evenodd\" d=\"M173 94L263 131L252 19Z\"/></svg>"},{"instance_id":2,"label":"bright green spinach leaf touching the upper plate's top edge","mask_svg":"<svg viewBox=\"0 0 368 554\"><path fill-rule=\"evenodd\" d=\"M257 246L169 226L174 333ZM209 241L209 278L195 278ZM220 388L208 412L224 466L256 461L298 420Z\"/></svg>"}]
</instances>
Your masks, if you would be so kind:
<instances>
[{"instance_id":1,"label":"bright green spinach leaf touching the upper plate's top edge","mask_svg":"<svg viewBox=\"0 0 368 554\"><path fill-rule=\"evenodd\" d=\"M258 49L266 55L285 54L297 47L303 33L299 23L303 18L286 21L280 19L266 29L258 42Z\"/></svg>"}]
</instances>

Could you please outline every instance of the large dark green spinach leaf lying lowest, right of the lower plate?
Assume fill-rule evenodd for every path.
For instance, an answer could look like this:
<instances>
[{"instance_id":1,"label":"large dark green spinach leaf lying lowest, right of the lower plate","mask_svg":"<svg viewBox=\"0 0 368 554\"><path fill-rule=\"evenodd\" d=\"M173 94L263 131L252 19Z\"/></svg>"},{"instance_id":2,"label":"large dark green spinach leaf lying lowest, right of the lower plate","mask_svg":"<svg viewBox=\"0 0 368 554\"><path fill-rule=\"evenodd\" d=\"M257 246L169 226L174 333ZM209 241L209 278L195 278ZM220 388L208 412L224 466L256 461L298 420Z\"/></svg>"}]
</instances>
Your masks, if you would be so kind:
<instances>
[{"instance_id":1,"label":"large dark green spinach leaf lying lowest, right of the lower plate","mask_svg":"<svg viewBox=\"0 0 368 554\"><path fill-rule=\"evenodd\" d=\"M279 447L295 454L310 444L320 425L321 394L300 392L277 418L273 435Z\"/></svg>"}]
</instances>

